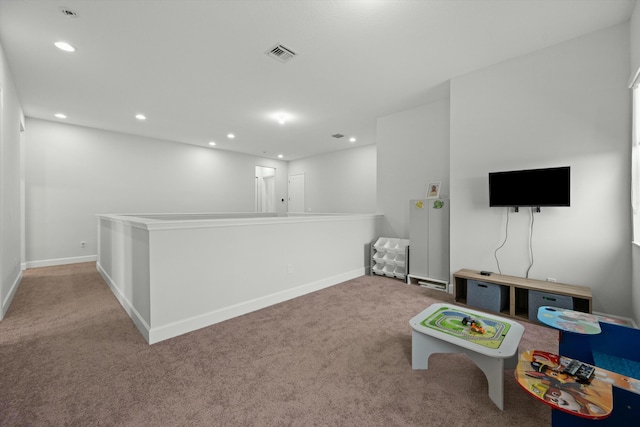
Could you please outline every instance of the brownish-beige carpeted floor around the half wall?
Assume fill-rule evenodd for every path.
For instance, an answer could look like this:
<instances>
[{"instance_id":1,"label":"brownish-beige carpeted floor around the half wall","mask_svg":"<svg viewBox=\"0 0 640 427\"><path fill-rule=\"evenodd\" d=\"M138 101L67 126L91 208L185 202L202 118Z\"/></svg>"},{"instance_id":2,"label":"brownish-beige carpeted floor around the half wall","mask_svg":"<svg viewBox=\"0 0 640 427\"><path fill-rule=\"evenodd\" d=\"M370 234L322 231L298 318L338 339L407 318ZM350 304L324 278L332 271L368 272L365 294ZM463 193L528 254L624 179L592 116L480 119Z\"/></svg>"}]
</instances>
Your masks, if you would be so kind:
<instances>
[{"instance_id":1,"label":"brownish-beige carpeted floor around the half wall","mask_svg":"<svg viewBox=\"0 0 640 427\"><path fill-rule=\"evenodd\" d=\"M95 263L27 270L0 322L0 425L550 425L512 371L500 411L463 355L411 369L408 321L442 301L363 276L149 346ZM521 349L557 351L522 323Z\"/></svg>"}]
</instances>

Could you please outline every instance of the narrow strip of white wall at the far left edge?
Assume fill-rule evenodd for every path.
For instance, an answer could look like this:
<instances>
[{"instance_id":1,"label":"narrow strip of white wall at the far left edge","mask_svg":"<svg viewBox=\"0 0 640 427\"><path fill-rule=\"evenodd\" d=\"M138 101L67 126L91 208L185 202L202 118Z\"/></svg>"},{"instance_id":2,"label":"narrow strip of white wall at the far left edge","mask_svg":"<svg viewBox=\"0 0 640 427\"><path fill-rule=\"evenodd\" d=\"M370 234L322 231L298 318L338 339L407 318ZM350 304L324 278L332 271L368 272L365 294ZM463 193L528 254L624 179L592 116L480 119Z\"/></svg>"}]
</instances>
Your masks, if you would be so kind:
<instances>
[{"instance_id":1,"label":"narrow strip of white wall at the far left edge","mask_svg":"<svg viewBox=\"0 0 640 427\"><path fill-rule=\"evenodd\" d=\"M0 46L0 319L20 283L22 107Z\"/></svg>"}]
</instances>

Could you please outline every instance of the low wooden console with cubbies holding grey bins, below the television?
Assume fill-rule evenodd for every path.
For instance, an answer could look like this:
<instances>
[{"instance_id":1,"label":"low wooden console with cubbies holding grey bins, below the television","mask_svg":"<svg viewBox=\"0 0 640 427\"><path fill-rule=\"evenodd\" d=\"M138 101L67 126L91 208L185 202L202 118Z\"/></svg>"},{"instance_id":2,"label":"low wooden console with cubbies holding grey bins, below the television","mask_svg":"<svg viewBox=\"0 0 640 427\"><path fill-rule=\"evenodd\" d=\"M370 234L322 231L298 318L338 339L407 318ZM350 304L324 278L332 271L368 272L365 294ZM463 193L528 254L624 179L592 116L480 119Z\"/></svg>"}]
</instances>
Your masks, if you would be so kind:
<instances>
[{"instance_id":1,"label":"low wooden console with cubbies holding grey bins, below the television","mask_svg":"<svg viewBox=\"0 0 640 427\"><path fill-rule=\"evenodd\" d=\"M454 298L458 304L467 305L467 280L507 286L509 288L509 303L507 304L507 309L501 312L504 316L529 320L529 290L572 297L573 310L591 313L591 288L587 286L546 282L495 273L491 273L490 276L483 276L477 270L467 269L459 270L453 275Z\"/></svg>"}]
</instances>

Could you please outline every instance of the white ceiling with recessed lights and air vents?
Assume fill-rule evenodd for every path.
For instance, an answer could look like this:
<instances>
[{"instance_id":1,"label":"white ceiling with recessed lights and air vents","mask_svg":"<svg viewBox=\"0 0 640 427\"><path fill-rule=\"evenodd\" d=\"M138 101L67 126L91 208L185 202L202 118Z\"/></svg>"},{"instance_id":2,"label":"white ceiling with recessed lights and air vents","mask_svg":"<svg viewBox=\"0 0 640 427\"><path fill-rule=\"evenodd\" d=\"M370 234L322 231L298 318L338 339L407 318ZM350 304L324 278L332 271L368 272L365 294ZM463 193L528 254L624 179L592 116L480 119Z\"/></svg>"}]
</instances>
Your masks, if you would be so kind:
<instances>
[{"instance_id":1,"label":"white ceiling with recessed lights and air vents","mask_svg":"<svg viewBox=\"0 0 640 427\"><path fill-rule=\"evenodd\" d=\"M62 112L66 123L294 160L375 144L378 117L448 97L450 78L624 22L634 4L0 0L0 42L28 117ZM296 56L267 56L278 43Z\"/></svg>"}]
</instances>

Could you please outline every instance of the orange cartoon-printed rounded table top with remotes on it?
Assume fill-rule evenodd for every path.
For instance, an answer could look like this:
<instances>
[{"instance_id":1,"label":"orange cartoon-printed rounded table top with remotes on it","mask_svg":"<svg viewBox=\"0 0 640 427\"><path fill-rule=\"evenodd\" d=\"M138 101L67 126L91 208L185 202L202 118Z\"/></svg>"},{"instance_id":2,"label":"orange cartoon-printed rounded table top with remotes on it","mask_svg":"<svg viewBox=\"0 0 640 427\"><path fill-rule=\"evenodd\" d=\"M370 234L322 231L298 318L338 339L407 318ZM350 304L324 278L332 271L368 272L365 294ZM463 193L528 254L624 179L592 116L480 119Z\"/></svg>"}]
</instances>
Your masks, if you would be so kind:
<instances>
[{"instance_id":1,"label":"orange cartoon-printed rounded table top with remotes on it","mask_svg":"<svg viewBox=\"0 0 640 427\"><path fill-rule=\"evenodd\" d=\"M595 368L595 376L588 384L579 383L567 373L571 361L545 351L526 351L515 369L516 380L525 391L554 409L583 418L606 418L613 410L611 382L599 376L599 368L582 364Z\"/></svg>"}]
</instances>

